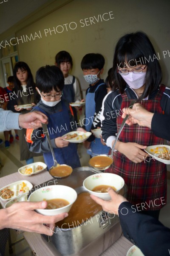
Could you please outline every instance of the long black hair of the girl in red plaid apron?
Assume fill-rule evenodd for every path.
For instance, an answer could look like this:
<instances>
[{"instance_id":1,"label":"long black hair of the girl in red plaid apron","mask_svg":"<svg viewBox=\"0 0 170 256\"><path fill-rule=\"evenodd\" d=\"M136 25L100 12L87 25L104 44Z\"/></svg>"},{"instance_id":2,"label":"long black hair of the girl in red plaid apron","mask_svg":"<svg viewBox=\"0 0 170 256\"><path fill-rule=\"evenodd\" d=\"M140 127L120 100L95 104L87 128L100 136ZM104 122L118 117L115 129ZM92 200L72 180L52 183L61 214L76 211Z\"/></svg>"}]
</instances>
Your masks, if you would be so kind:
<instances>
[{"instance_id":1,"label":"long black hair of the girl in red plaid apron","mask_svg":"<svg viewBox=\"0 0 170 256\"><path fill-rule=\"evenodd\" d=\"M161 67L153 45L144 32L126 34L119 39L114 52L113 70L109 80L113 90L119 89L120 93L125 91L126 82L117 72L119 67L126 69L139 64L146 65L147 72L144 91L138 101L159 87L162 78Z\"/></svg>"}]
</instances>

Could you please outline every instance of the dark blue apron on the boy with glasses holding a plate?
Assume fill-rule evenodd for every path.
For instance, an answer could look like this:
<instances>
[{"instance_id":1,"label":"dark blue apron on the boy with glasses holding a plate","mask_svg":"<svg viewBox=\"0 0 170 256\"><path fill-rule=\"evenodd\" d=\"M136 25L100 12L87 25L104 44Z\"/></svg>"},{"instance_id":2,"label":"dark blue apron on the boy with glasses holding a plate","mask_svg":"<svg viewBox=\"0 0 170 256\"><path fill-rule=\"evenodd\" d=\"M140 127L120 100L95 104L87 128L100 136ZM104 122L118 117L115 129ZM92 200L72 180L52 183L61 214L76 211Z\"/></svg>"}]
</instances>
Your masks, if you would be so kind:
<instances>
[{"instance_id":1,"label":"dark blue apron on the boy with glasses holding a plate","mask_svg":"<svg viewBox=\"0 0 170 256\"><path fill-rule=\"evenodd\" d=\"M41 111L42 113L45 113L46 116L48 116L47 127L51 140L57 137L62 137L64 134L71 131L70 117L64 102L62 102L62 111L51 115L48 115L48 113L37 106L34 107L34 109L37 109L38 111ZM53 149L56 160L59 164L67 164L73 169L81 166L79 156L77 154L76 143L69 143L68 146L64 148ZM51 151L48 153L43 153L43 157L46 165L48 166L48 169L54 166L54 160Z\"/></svg>"}]
</instances>

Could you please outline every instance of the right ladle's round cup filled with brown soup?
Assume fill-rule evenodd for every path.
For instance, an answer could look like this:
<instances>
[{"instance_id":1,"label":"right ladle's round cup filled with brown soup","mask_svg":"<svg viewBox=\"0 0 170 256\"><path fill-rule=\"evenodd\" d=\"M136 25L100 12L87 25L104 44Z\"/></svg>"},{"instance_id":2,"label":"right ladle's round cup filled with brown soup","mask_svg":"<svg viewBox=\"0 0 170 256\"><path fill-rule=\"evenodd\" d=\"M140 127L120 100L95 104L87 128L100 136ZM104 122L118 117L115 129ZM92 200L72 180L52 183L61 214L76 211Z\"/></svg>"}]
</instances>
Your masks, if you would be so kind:
<instances>
[{"instance_id":1,"label":"right ladle's round cup filled with brown soup","mask_svg":"<svg viewBox=\"0 0 170 256\"><path fill-rule=\"evenodd\" d=\"M103 171L105 169L108 169L112 165L113 158L103 154L103 155L91 157L88 163L94 169L98 171Z\"/></svg>"}]
</instances>

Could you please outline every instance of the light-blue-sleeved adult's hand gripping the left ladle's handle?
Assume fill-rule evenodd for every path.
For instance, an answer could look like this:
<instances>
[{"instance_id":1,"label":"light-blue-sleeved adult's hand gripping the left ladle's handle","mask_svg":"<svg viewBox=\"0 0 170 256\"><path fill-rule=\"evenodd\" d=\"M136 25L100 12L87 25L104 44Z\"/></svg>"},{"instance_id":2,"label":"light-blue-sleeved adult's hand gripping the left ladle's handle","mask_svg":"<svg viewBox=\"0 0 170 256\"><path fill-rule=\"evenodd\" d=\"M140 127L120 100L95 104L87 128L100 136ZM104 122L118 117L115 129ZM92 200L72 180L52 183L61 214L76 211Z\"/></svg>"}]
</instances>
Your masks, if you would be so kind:
<instances>
[{"instance_id":1,"label":"light-blue-sleeved adult's hand gripping the left ladle's handle","mask_svg":"<svg viewBox=\"0 0 170 256\"><path fill-rule=\"evenodd\" d=\"M48 118L44 113L40 111L34 111L19 115L19 125L23 128L40 128L42 127L41 123L48 123Z\"/></svg>"}]
</instances>

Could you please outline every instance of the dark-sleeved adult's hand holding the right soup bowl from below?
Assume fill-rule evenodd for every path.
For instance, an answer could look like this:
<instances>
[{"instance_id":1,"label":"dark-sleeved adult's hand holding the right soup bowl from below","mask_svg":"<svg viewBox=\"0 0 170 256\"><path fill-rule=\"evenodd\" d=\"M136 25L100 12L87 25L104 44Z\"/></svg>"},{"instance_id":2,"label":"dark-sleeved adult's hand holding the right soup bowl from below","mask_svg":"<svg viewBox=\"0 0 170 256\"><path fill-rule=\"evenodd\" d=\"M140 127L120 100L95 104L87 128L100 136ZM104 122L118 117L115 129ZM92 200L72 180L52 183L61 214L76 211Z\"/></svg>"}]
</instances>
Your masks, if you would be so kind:
<instances>
[{"instance_id":1,"label":"dark-sleeved adult's hand holding the right soup bowl from below","mask_svg":"<svg viewBox=\"0 0 170 256\"><path fill-rule=\"evenodd\" d=\"M114 212L118 215L119 205L123 202L126 202L127 199L122 195L117 194L113 189L108 188L108 193L111 196L111 200L105 201L101 198L96 197L95 195L90 195L91 198L97 203L100 204L105 212Z\"/></svg>"}]
</instances>

